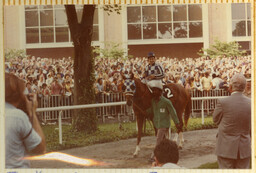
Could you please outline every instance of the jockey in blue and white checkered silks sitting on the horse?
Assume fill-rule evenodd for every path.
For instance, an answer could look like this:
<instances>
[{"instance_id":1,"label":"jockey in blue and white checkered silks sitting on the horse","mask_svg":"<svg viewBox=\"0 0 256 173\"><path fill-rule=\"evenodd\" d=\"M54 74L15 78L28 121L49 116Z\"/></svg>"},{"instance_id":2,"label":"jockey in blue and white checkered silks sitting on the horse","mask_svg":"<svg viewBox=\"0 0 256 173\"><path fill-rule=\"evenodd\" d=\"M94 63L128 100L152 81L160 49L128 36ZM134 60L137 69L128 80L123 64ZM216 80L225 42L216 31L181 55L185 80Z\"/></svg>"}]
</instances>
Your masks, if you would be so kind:
<instances>
[{"instance_id":1,"label":"jockey in blue and white checkered silks sitting on the horse","mask_svg":"<svg viewBox=\"0 0 256 173\"><path fill-rule=\"evenodd\" d=\"M155 83L163 85L162 79L164 78L164 70L161 64L156 63L155 54L148 53L148 62L143 77L146 79L146 84L151 88Z\"/></svg>"}]
</instances>

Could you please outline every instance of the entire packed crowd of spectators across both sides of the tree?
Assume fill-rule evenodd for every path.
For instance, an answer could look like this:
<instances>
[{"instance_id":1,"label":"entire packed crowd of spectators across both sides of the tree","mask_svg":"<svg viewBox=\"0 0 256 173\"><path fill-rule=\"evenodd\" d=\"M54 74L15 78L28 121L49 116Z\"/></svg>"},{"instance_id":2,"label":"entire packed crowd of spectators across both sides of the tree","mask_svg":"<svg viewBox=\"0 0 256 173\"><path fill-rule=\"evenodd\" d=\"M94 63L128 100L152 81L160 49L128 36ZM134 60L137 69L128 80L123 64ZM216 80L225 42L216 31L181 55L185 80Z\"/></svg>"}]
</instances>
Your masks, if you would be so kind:
<instances>
[{"instance_id":1,"label":"entire packed crowd of spectators across both sides of the tree","mask_svg":"<svg viewBox=\"0 0 256 173\"><path fill-rule=\"evenodd\" d=\"M164 83L179 83L189 90L227 89L229 80L236 73L251 76L251 57L200 57L166 58L158 57L165 70ZM122 91L120 72L133 71L135 77L142 78L147 58L95 60L96 93L118 93ZM5 71L14 73L26 81L28 93L39 96L66 95L73 93L73 60L69 58L51 59L28 56L16 57L5 63Z\"/></svg>"}]
</instances>

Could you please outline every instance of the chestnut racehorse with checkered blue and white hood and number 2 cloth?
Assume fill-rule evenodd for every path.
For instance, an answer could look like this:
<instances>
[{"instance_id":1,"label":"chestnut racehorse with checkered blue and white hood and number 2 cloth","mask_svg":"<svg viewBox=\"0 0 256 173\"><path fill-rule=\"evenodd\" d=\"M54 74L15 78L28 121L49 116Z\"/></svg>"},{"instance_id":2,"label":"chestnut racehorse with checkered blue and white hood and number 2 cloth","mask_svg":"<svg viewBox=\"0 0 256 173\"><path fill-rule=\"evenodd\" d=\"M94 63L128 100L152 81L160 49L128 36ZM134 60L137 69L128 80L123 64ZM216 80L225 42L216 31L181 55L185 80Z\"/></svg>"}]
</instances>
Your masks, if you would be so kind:
<instances>
[{"instance_id":1,"label":"chestnut racehorse with checkered blue and white hood and number 2 cloth","mask_svg":"<svg viewBox=\"0 0 256 173\"><path fill-rule=\"evenodd\" d=\"M140 79L132 77L127 78L124 75L124 84L123 84L123 91L125 93L125 98L128 106L133 106L133 111L136 116L137 120L137 127L138 127L138 136L137 136L137 146L136 150L133 154L134 157L136 157L139 153L140 147L140 141L141 141L141 135L142 135L142 129L143 124L146 119L149 119L151 122L153 122L153 116L148 116L146 114L146 110L151 107L151 100L152 100L152 93L150 88L144 84ZM192 102L191 102L191 95L188 90L185 90L185 88L180 84L173 84L169 83L167 85L164 85L163 87L163 95L170 99L178 116L179 122L181 123L179 127L176 126L177 133L174 137L174 140L177 142L179 148L182 148L182 144L184 142L183 139L183 112L184 114L184 124L185 129L187 128L188 119L190 116L191 108L192 108ZM153 124L153 123L152 123ZM155 134L156 134L156 128ZM179 142L178 142L179 138Z\"/></svg>"}]
</instances>

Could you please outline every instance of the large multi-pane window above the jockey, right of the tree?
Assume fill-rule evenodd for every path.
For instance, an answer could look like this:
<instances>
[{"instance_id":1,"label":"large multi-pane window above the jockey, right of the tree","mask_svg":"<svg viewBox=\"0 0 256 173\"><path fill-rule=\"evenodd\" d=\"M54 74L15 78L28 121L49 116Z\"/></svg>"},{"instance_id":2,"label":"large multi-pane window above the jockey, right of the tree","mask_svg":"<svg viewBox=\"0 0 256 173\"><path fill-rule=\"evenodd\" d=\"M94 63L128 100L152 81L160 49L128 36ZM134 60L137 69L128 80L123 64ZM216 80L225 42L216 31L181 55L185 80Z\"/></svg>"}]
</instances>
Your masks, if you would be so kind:
<instances>
[{"instance_id":1,"label":"large multi-pane window above the jockey, right of the tree","mask_svg":"<svg viewBox=\"0 0 256 173\"><path fill-rule=\"evenodd\" d=\"M128 40L202 38L202 5L127 7Z\"/></svg>"}]
</instances>

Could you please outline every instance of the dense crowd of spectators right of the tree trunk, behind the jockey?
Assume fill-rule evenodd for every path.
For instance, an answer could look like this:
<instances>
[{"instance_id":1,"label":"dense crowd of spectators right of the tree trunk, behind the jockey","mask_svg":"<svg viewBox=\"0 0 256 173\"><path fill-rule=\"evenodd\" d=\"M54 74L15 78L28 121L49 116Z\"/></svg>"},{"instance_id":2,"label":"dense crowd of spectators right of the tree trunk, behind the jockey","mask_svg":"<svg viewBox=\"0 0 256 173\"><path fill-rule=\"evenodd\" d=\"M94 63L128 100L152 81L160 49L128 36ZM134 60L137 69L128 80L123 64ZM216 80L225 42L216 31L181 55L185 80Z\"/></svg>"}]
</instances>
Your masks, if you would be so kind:
<instances>
[{"instance_id":1,"label":"dense crowd of spectators right of the tree trunk, behind the jockey","mask_svg":"<svg viewBox=\"0 0 256 173\"><path fill-rule=\"evenodd\" d=\"M159 57L157 61L165 70L163 82L179 83L189 90L228 89L229 81L236 73L247 78L251 76L251 57L200 57L177 58ZM120 92L122 77L120 71L131 69L137 78L142 78L147 58L133 58L129 61L104 59L96 60L96 90L98 92Z\"/></svg>"}]
</instances>

